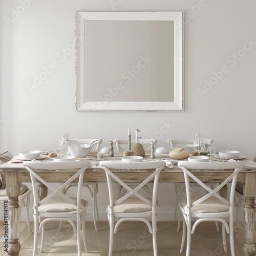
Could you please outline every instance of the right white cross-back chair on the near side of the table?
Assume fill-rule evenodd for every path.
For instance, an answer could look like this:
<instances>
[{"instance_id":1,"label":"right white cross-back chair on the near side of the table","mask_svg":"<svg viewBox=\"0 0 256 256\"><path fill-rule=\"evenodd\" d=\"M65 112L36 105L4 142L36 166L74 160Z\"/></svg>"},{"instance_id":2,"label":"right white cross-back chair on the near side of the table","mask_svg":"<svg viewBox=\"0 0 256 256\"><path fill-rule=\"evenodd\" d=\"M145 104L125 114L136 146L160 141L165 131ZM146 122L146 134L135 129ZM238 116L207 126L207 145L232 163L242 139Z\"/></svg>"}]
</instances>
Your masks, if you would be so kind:
<instances>
[{"instance_id":1,"label":"right white cross-back chair on the near side of the table","mask_svg":"<svg viewBox=\"0 0 256 256\"><path fill-rule=\"evenodd\" d=\"M227 252L226 232L229 233L231 255L234 256L234 241L233 241L233 211L234 211L234 189L236 188L237 176L244 162L187 162L179 161L179 167L182 168L186 185L186 199L179 202L179 207L182 212L183 231L180 253L183 251L185 234L187 233L187 248L186 256L190 253L191 234L195 232L197 225L203 221L218 221L222 223L222 240L224 251ZM218 187L211 189L202 181L200 181L191 170L203 169L229 169L230 176L225 179ZM208 193L201 198L191 198L189 179L198 183ZM231 182L229 199L223 198L219 194L219 190ZM191 218L196 218L194 225L191 224ZM229 224L228 224L229 222ZM186 232L187 229L187 232Z\"/></svg>"}]
</instances>

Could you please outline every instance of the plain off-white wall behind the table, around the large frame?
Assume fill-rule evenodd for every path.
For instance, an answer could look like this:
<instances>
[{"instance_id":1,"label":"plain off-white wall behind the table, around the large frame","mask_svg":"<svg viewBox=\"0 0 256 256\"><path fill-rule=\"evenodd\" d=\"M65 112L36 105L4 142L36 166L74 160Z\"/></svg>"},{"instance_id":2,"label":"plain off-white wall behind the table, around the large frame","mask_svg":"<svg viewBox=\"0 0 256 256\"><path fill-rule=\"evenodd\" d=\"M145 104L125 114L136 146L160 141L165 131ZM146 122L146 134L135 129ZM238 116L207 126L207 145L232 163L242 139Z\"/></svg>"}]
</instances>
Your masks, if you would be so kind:
<instances>
[{"instance_id":1,"label":"plain off-white wall behind the table, around the large frame","mask_svg":"<svg viewBox=\"0 0 256 256\"><path fill-rule=\"evenodd\" d=\"M185 112L75 111L75 12L111 11L111 3L116 3L115 10L185 11ZM103 137L107 146L125 137L131 126L144 138L156 137L159 146L167 146L168 138L191 138L200 131L215 140L217 150L236 149L252 159L255 8L253 0L0 0L0 151L46 151L62 132L76 138ZM63 49L70 51L65 54ZM27 84L52 61L58 67L31 93ZM215 82L215 72L221 78L200 97L198 88ZM99 195L99 206L105 207L104 193ZM174 204L172 195L173 186L161 184L163 210Z\"/></svg>"}]
</instances>

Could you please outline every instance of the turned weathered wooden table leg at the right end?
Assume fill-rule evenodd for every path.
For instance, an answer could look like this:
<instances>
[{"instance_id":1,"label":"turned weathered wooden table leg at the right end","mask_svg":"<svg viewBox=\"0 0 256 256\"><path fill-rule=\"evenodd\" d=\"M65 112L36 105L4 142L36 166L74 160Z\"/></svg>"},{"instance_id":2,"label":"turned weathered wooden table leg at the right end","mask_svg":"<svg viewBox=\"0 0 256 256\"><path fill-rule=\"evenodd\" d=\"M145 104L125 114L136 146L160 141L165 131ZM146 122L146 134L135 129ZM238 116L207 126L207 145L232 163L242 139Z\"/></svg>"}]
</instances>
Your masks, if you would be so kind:
<instances>
[{"instance_id":1,"label":"turned weathered wooden table leg at the right end","mask_svg":"<svg viewBox=\"0 0 256 256\"><path fill-rule=\"evenodd\" d=\"M247 256L256 255L256 245L254 240L255 204L256 194L256 173L247 173L244 184L244 221L245 221L245 243L244 253Z\"/></svg>"}]
</instances>

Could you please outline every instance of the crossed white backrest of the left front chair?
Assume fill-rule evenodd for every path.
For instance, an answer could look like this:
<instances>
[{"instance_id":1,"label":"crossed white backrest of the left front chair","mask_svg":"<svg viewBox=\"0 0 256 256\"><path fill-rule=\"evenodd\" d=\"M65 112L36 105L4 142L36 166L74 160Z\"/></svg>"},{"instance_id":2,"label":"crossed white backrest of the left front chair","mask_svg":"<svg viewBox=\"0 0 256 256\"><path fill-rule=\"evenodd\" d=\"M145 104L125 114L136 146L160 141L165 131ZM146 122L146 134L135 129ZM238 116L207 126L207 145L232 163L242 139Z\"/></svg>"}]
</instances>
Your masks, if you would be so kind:
<instances>
[{"instance_id":1,"label":"crossed white backrest of the left front chair","mask_svg":"<svg viewBox=\"0 0 256 256\"><path fill-rule=\"evenodd\" d=\"M36 206L36 210L38 210L38 206L47 204L49 199L53 197L60 197L70 202L71 204L74 204L79 207L83 207L80 205L82 181L83 181L84 170L86 170L90 166L90 162L88 161L72 161L72 162L25 161L23 165L30 173L32 188L33 188L33 195L34 195L34 205ZM74 170L74 175L71 176L65 183L63 183L61 186L57 188L53 187L51 183L46 182L43 178L41 178L35 172L36 170L47 170L49 171L49 175L50 175L50 172L52 172L53 170L56 171L56 170L65 170L65 169ZM78 191L77 201L75 202L74 200L72 200L71 198L63 194L63 191L65 187L68 186L77 177L79 177L79 181L78 181L78 189L77 189ZM39 182L43 183L48 188L48 191L49 190L51 191L51 193L42 200L39 200L39 197L38 197L36 179Z\"/></svg>"}]
</instances>

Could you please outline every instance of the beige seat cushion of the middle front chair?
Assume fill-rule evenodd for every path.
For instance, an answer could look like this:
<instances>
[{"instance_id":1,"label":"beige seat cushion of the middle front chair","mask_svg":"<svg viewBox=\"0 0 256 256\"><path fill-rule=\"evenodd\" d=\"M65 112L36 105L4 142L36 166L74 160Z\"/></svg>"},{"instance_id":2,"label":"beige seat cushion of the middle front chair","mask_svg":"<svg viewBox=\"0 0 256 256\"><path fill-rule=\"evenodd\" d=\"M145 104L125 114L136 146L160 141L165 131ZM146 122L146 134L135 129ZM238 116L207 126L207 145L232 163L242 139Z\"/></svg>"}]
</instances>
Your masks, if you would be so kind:
<instances>
[{"instance_id":1,"label":"beige seat cushion of the middle front chair","mask_svg":"<svg viewBox=\"0 0 256 256\"><path fill-rule=\"evenodd\" d=\"M114 199L114 202L118 200L118 198ZM152 201L151 198L147 198L147 200ZM158 202L157 202L158 205ZM157 210L159 210L159 206L156 206ZM139 198L127 198L120 204L114 206L114 211L116 212L145 212L151 211L152 206L146 204Z\"/></svg>"}]
</instances>

